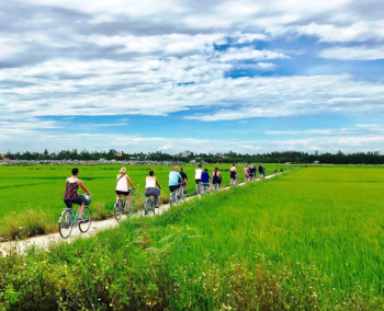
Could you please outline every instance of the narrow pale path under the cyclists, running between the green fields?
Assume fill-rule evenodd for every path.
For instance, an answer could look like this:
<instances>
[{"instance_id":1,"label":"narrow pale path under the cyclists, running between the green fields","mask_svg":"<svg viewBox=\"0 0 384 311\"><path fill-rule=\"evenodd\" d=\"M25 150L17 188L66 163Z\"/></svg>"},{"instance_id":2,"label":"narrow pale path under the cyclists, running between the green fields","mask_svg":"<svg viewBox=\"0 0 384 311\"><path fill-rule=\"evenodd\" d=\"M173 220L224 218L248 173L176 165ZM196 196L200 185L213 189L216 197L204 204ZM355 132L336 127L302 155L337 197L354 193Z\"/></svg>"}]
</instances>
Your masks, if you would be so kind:
<instances>
[{"instance_id":1,"label":"narrow pale path under the cyclists, running between the green fields","mask_svg":"<svg viewBox=\"0 0 384 311\"><path fill-rule=\"evenodd\" d=\"M275 173L271 175L267 175L264 178L269 180L272 178L279 174L283 173ZM260 178L256 180L257 182L260 181ZM245 183L240 183L239 186L245 185ZM231 186L225 186L224 188L219 191L228 189ZM192 198L196 198L195 195L191 195L185 198L185 200L190 200ZM169 204L160 205L160 207L156 210L156 215L162 214L167 211L170 208ZM123 220L126 216L123 216ZM143 211L135 214L133 217L143 217ZM71 235L68 239L63 239L59 233L52 233L46 235L39 235L39 237L33 237L29 238L26 240L19 240L19 241L9 241L9 242L2 242L0 243L0 256L7 256L10 254L10 252L16 252L18 254L24 254L25 251L27 251L31 247L38 247L38 249L45 249L48 250L50 245L56 243L70 243L75 241L78 238L89 238L94 234L97 234L100 231L111 229L114 227L117 227L118 222L115 220L115 218L110 218L108 220L102 221L94 221L91 223L91 228L87 233L81 233L78 228L74 228Z\"/></svg>"}]
</instances>

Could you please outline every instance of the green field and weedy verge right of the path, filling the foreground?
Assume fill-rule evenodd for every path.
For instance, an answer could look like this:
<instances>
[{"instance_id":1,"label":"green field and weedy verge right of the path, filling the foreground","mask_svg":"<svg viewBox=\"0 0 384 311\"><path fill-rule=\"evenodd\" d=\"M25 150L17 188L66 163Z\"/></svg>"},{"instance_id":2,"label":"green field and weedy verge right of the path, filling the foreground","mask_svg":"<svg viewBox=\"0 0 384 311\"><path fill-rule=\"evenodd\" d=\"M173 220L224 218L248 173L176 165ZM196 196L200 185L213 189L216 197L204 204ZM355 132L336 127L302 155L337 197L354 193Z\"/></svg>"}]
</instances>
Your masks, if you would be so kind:
<instances>
[{"instance_id":1,"label":"green field and weedy verge right of the path, filling the foreground","mask_svg":"<svg viewBox=\"0 0 384 311\"><path fill-rule=\"evenodd\" d=\"M302 169L12 255L0 307L384 310L383 187L382 169Z\"/></svg>"}]
</instances>

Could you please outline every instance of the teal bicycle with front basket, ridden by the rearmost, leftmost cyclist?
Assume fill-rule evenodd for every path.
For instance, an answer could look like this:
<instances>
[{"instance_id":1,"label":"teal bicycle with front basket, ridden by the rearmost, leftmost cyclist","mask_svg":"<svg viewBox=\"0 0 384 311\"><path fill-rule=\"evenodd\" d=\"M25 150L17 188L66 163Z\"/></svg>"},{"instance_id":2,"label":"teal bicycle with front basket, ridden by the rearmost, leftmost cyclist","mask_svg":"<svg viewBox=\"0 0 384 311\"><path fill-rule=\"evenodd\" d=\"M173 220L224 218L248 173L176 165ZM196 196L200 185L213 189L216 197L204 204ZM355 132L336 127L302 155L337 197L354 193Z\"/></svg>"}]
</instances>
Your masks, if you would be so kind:
<instances>
[{"instance_id":1,"label":"teal bicycle with front basket, ridden by the rearmost, leftmost cyclist","mask_svg":"<svg viewBox=\"0 0 384 311\"><path fill-rule=\"evenodd\" d=\"M92 214L89 209L91 205L92 195L81 195L84 199L84 209L82 211L82 218L84 221L78 221L79 210L74 215L74 207L67 207L60 214L58 220L58 230L63 239L67 239L72 232L74 227L79 226L79 230L86 233L91 227Z\"/></svg>"}]
</instances>

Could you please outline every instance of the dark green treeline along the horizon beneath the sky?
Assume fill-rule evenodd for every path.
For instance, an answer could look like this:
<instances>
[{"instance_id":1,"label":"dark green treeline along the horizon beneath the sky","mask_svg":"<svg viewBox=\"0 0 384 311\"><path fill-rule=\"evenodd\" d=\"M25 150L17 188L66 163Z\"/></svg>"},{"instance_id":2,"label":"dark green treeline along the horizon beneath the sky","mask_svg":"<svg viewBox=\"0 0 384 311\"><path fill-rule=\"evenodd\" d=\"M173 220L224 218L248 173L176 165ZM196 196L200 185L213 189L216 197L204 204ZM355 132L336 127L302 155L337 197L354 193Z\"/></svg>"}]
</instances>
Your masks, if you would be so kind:
<instances>
[{"instance_id":1,"label":"dark green treeline along the horizon beneath the sky","mask_svg":"<svg viewBox=\"0 0 384 311\"><path fill-rule=\"evenodd\" d=\"M1 157L1 156L0 156ZM357 153L343 153L341 151L337 153L314 153L300 152L300 151L274 151L269 153L248 154L237 152L226 153L191 153L189 157L180 157L179 154L168 154L161 151L150 153L127 153L124 151L116 151L111 149L110 151L88 151L82 150L61 150L57 154L49 153L47 149L44 152L7 152L3 158L10 160L82 160L82 161L98 161L100 159L105 160L124 160L124 161L182 161L189 162L195 160L196 162L207 163L238 163L238 162L255 162L255 163L285 163L291 162L293 164L306 164L319 161L320 163L329 164L383 164L384 154L379 151L375 152L357 152Z\"/></svg>"}]
</instances>

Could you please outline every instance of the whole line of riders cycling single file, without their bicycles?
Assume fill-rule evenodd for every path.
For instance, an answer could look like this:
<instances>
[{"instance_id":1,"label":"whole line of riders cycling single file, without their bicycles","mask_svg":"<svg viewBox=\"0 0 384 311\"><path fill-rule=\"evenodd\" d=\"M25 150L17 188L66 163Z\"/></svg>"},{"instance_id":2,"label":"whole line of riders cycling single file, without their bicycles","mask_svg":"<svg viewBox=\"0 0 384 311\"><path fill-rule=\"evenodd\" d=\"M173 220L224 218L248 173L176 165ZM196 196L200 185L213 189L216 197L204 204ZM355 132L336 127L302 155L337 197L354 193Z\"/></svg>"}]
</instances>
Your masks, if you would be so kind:
<instances>
[{"instance_id":1,"label":"whole line of riders cycling single file, without their bicycles","mask_svg":"<svg viewBox=\"0 0 384 311\"><path fill-rule=\"evenodd\" d=\"M266 169L260 164L258 169L256 169L256 165L251 163L248 168L246 165L242 170L246 182L247 181L253 181L256 178L256 173L259 172L259 176L262 178L266 174ZM68 177L66 180L66 192L64 194L64 203L67 205L68 208L72 208L72 205L79 205L79 222L84 221L82 219L82 211L84 208L84 199L81 195L77 193L79 186L88 194L91 195L88 188L84 186L83 182L79 180L79 170L77 168L72 169L72 176ZM238 184L238 172L235 164L229 170L229 176L231 184ZM212 172L212 176L208 173L207 169L202 168L200 164L199 168L194 171L194 181L196 185L206 186L210 191L212 191L214 187L221 187L223 182L223 174L218 170L218 168L215 168ZM212 183L211 183L212 182ZM183 170L183 168L180 169L178 166L173 166L172 171L169 173L169 191L172 195L173 192L177 192L177 196L180 198L181 188L183 188L184 193L187 193L187 185L189 183L188 176ZM128 188L128 184L131 185L131 189ZM150 170L148 172L148 176L146 177L146 185L145 185L145 194L147 196L154 197L154 204L155 207L159 207L159 189L161 188L161 185L159 184L159 181L155 176L154 170ZM120 170L120 174L116 176L116 195L117 197L126 196L128 197L127 204L131 205L132 201L132 195L133 191L135 189L135 186L129 178L129 176L126 174L126 169L122 168Z\"/></svg>"}]
</instances>

